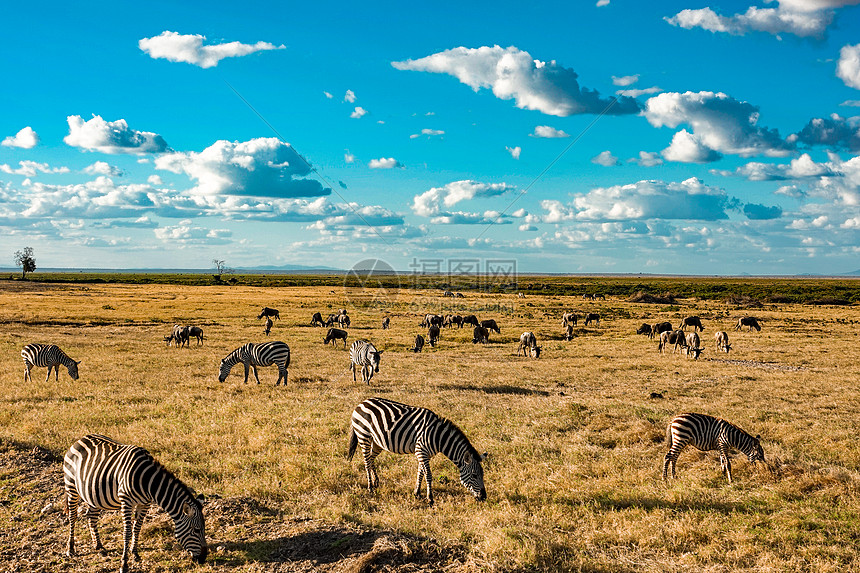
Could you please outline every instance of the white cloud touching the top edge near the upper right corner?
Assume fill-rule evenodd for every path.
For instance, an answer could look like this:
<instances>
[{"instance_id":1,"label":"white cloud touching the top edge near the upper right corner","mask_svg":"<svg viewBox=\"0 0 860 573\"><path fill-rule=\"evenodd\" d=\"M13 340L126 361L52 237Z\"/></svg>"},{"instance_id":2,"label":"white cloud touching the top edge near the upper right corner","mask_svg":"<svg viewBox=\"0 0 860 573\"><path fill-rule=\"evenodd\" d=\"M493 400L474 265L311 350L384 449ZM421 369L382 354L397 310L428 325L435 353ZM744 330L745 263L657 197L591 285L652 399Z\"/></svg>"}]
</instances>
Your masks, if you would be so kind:
<instances>
[{"instance_id":1,"label":"white cloud touching the top edge near the upper right corner","mask_svg":"<svg viewBox=\"0 0 860 573\"><path fill-rule=\"evenodd\" d=\"M860 0L778 0L775 8L750 6L742 14L722 16L711 8L681 10L666 21L681 28L743 35L748 32L794 34L821 38L833 22L834 10Z\"/></svg>"}]
</instances>

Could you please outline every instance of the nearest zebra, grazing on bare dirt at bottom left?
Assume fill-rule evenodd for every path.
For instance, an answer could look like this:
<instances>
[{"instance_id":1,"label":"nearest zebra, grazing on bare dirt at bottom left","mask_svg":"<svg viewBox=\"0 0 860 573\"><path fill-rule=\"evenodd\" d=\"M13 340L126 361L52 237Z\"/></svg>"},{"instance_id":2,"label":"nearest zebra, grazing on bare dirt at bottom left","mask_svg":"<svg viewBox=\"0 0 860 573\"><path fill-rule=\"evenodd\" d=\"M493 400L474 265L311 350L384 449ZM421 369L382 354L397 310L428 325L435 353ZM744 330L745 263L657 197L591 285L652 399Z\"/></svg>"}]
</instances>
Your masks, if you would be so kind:
<instances>
[{"instance_id":1,"label":"nearest zebra, grazing on bare dirt at bottom left","mask_svg":"<svg viewBox=\"0 0 860 573\"><path fill-rule=\"evenodd\" d=\"M197 563L206 561L209 549L203 523L203 506L192 491L158 463L145 449L89 434L69 448L63 459L63 484L69 542L66 555L75 555L75 522L83 502L95 549L106 555L99 538L102 510L120 510L123 546L120 573L127 573L129 552L140 561L137 543L143 520L153 503L173 518L176 539Z\"/></svg>"}]
</instances>

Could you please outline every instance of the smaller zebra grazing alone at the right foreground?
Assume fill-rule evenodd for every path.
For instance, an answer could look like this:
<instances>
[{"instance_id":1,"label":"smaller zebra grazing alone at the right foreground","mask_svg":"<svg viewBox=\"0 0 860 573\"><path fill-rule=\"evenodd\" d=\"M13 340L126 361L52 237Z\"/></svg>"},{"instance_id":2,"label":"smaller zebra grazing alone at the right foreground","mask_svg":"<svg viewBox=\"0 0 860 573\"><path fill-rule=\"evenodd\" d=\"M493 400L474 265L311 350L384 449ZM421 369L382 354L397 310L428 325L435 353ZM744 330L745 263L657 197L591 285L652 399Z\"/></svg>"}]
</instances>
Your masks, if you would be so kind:
<instances>
[{"instance_id":1,"label":"smaller zebra grazing alone at the right foreground","mask_svg":"<svg viewBox=\"0 0 860 573\"><path fill-rule=\"evenodd\" d=\"M732 464L729 461L729 450L735 448L747 455L750 462L764 461L764 450L761 448L761 436L753 438L734 424L721 418L707 414L679 414L666 427L666 442L669 451L663 460L663 481L669 464L672 464L672 477L675 477L675 462L687 445L692 445L703 452L719 450L720 468L725 472L729 483L732 483Z\"/></svg>"}]
</instances>

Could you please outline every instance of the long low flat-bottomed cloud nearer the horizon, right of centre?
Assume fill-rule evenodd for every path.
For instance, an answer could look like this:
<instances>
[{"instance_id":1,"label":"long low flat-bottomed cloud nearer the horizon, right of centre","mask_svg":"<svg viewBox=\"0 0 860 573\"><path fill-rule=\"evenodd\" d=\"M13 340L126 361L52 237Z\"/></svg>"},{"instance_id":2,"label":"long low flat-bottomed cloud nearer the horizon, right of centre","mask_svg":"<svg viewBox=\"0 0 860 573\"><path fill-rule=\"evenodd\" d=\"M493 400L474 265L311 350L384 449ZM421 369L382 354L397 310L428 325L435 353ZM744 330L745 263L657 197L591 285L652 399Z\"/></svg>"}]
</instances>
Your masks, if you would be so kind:
<instances>
[{"instance_id":1,"label":"long low flat-bottomed cloud nearer the horizon, right of centre","mask_svg":"<svg viewBox=\"0 0 860 573\"><path fill-rule=\"evenodd\" d=\"M564 221L632 221L685 219L716 221L728 218L735 201L722 189L696 178L681 183L639 181L629 185L598 187L576 196L569 204L544 200L546 223Z\"/></svg>"}]
</instances>

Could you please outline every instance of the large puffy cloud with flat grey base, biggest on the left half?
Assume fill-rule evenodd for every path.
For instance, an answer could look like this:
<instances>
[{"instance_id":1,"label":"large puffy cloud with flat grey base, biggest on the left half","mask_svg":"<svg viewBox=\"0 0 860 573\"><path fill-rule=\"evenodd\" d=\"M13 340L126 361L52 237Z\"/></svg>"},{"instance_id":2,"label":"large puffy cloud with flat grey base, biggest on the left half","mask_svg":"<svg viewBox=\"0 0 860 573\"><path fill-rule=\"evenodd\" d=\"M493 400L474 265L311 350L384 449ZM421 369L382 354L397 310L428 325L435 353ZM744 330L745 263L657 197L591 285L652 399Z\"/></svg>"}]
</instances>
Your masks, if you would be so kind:
<instances>
[{"instance_id":1,"label":"large puffy cloud with flat grey base, biggest on the left half","mask_svg":"<svg viewBox=\"0 0 860 573\"><path fill-rule=\"evenodd\" d=\"M202 195L318 197L328 195L311 173L310 164L293 147L276 139L219 140L203 151L170 153L155 160L157 169L185 173Z\"/></svg>"}]
</instances>

